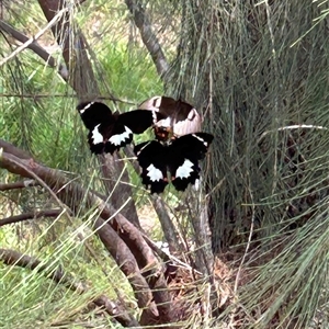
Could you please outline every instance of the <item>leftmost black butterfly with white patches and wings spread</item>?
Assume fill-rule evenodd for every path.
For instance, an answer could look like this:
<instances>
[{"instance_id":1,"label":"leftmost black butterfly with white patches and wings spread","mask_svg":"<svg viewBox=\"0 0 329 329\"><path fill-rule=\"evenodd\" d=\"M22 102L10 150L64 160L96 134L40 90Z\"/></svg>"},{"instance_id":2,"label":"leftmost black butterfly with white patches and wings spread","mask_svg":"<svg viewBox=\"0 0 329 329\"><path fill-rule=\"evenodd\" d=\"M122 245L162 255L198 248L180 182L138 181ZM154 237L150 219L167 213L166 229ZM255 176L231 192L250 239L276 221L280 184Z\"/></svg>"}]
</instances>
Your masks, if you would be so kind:
<instances>
[{"instance_id":1,"label":"leftmost black butterfly with white patches and wings spread","mask_svg":"<svg viewBox=\"0 0 329 329\"><path fill-rule=\"evenodd\" d=\"M89 129L88 143L93 154L113 154L131 144L133 134L141 134L158 120L155 111L135 110L117 113L101 102L83 102L77 106L84 126Z\"/></svg>"}]
</instances>

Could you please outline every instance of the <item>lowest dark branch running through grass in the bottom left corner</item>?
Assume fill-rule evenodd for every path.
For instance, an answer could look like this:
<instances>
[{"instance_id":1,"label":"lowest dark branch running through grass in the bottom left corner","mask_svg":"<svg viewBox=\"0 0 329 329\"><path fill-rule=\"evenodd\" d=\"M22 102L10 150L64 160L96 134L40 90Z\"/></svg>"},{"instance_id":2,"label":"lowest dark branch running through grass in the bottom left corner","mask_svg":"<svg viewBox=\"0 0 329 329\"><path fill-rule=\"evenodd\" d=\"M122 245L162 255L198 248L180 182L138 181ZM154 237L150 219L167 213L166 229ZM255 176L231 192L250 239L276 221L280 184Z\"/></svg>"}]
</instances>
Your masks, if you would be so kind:
<instances>
[{"instance_id":1,"label":"lowest dark branch running through grass in the bottom left corner","mask_svg":"<svg viewBox=\"0 0 329 329\"><path fill-rule=\"evenodd\" d=\"M47 265L42 265L42 262L34 257L27 254L22 254L14 250L0 249L0 260L7 265L14 265L30 270L37 270L38 273L48 276L56 283L65 285L70 291L78 293L79 295L88 293L88 287L82 282L76 282L61 270L49 270ZM139 326L137 320L129 315L122 305L109 299L105 295L100 295L95 297L92 303L104 309L109 315L113 316L120 324L124 327L135 327Z\"/></svg>"}]
</instances>

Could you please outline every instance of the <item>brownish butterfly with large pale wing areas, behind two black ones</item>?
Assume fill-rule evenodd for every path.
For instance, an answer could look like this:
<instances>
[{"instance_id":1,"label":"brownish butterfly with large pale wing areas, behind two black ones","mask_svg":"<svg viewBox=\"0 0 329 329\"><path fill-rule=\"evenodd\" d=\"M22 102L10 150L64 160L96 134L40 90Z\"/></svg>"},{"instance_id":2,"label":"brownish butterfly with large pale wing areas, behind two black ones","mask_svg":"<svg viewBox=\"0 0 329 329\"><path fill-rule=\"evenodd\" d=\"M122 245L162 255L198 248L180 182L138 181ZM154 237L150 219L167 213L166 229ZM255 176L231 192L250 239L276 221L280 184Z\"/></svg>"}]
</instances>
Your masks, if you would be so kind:
<instances>
[{"instance_id":1,"label":"brownish butterfly with large pale wing areas, behind two black ones","mask_svg":"<svg viewBox=\"0 0 329 329\"><path fill-rule=\"evenodd\" d=\"M189 103L168 97L154 97L138 109L149 110L160 114L163 118L155 122L154 131L158 140L170 140L201 131L202 118L197 111Z\"/></svg>"}]
</instances>

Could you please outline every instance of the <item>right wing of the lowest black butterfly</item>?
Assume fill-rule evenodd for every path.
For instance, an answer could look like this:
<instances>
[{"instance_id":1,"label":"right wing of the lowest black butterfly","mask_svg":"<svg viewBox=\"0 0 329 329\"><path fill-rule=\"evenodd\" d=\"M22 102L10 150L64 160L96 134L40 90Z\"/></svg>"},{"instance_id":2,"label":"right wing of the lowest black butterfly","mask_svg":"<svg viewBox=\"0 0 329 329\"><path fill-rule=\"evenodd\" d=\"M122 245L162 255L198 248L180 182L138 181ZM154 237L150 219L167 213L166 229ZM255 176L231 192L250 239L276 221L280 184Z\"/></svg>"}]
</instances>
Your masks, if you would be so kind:
<instances>
[{"instance_id":1,"label":"right wing of the lowest black butterfly","mask_svg":"<svg viewBox=\"0 0 329 329\"><path fill-rule=\"evenodd\" d=\"M190 134L174 139L169 146L168 168L178 191L184 191L200 178L198 160L205 157L213 138L206 133Z\"/></svg>"}]
</instances>

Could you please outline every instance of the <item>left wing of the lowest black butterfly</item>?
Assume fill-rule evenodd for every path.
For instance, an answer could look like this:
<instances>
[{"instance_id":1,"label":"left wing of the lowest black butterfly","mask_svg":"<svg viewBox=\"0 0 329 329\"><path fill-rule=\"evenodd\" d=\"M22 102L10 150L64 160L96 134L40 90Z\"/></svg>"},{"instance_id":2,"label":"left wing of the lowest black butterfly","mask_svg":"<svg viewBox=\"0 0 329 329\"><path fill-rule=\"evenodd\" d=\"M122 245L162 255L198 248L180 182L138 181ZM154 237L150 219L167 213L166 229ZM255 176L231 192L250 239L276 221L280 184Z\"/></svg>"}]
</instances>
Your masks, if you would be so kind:
<instances>
[{"instance_id":1,"label":"left wing of the lowest black butterfly","mask_svg":"<svg viewBox=\"0 0 329 329\"><path fill-rule=\"evenodd\" d=\"M141 143L134 148L141 168L141 182L151 193L162 193L168 184L167 148L157 140Z\"/></svg>"}]
</instances>

